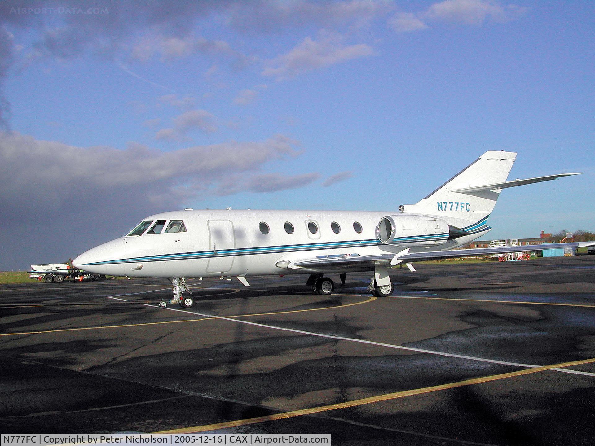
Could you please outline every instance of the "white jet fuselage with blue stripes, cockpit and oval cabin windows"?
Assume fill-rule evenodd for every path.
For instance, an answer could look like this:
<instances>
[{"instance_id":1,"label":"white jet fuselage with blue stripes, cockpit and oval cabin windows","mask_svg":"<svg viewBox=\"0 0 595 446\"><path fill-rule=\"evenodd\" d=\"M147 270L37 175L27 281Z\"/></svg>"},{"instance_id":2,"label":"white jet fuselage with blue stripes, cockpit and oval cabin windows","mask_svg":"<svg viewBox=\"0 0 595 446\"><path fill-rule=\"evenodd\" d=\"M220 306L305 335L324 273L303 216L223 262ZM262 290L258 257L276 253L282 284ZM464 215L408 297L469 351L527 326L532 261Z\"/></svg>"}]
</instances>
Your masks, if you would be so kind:
<instances>
[{"instance_id":1,"label":"white jet fuselage with blue stripes, cockpit and oval cabin windows","mask_svg":"<svg viewBox=\"0 0 595 446\"><path fill-rule=\"evenodd\" d=\"M83 253L73 263L98 274L130 277L308 274L311 271L307 269L288 270L278 265L283 260L320 256L398 253L406 247L411 252L453 249L491 229L486 214L467 214L454 218L399 211L164 212L143 219L148 223L142 234L111 240ZM386 237L379 232L379 223L386 216L399 221L390 243L381 241ZM172 232L178 222L183 222L185 231ZM468 234L450 239L448 225Z\"/></svg>"}]
</instances>

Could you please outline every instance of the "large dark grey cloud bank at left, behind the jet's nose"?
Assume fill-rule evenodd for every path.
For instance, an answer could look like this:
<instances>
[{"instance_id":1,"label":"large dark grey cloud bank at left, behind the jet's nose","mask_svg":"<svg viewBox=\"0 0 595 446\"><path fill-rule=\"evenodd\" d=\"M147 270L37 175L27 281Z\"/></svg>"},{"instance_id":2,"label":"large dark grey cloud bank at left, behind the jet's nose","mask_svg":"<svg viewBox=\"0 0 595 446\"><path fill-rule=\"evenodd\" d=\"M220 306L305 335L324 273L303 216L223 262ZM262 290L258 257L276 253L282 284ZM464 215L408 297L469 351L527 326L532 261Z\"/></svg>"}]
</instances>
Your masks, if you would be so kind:
<instances>
[{"instance_id":1,"label":"large dark grey cloud bank at left, behind the jet's nose","mask_svg":"<svg viewBox=\"0 0 595 446\"><path fill-rule=\"evenodd\" d=\"M232 176L248 184L271 161L297 156L296 149L297 142L282 135L161 152L138 144L125 150L76 147L0 133L0 269L63 262L121 236L147 215L229 189Z\"/></svg>"}]
</instances>

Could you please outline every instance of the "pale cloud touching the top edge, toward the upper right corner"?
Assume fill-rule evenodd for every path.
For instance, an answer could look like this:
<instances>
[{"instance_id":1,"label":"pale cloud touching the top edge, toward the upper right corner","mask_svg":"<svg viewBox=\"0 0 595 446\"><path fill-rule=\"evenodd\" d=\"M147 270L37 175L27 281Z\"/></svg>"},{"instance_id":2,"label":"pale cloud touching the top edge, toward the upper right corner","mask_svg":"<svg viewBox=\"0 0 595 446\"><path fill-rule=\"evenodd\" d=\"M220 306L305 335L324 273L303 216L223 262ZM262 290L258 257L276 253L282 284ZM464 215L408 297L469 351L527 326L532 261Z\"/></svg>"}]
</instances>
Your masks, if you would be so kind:
<instances>
[{"instance_id":1,"label":"pale cloud touching the top edge, toward the upper right corner","mask_svg":"<svg viewBox=\"0 0 595 446\"><path fill-rule=\"evenodd\" d=\"M444 0L431 5L425 12L425 17L431 20L480 25L486 20L500 22L514 20L525 10L513 4L504 7L490 0Z\"/></svg>"}]
</instances>

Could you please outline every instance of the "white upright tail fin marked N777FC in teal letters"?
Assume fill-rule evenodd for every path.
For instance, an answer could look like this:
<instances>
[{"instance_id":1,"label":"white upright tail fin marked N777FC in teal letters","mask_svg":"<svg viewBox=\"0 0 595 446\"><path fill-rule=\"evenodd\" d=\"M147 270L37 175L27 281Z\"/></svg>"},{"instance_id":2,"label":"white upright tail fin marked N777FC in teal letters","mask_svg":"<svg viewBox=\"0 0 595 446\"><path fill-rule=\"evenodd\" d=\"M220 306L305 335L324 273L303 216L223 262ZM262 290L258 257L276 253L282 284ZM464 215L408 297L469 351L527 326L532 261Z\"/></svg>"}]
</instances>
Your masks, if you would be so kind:
<instances>
[{"instance_id":1,"label":"white upright tail fin marked N777FC in teal letters","mask_svg":"<svg viewBox=\"0 0 595 446\"><path fill-rule=\"evenodd\" d=\"M488 150L415 205L403 206L403 212L429 213L478 221L494 209L501 190L465 192L453 190L470 188L478 184L502 183L506 181L515 159L515 152Z\"/></svg>"}]
</instances>

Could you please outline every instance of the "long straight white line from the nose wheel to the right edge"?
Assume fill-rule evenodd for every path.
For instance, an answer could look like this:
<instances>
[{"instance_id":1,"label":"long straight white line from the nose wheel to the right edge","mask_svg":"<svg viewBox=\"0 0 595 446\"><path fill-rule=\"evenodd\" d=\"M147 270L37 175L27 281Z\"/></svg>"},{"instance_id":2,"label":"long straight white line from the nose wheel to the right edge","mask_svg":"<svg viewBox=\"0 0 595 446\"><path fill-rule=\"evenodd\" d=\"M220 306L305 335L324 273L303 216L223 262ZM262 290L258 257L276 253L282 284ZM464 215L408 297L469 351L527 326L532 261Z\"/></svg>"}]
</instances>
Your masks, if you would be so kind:
<instances>
[{"instance_id":1,"label":"long straight white line from the nose wheel to the right edge","mask_svg":"<svg viewBox=\"0 0 595 446\"><path fill-rule=\"evenodd\" d=\"M207 315L205 313L199 313L199 312L194 312L194 311L189 311L189 310L178 310L176 308L169 308L169 307L162 308L162 307L148 304L148 303L142 303L141 305L145 305L148 307L154 307L157 309L178 311L180 313L190 313L192 315L205 316L206 318L223 319L224 321L245 323L246 325L254 325L254 326L260 326L260 327L264 327L264 328L272 328L275 330L289 331L289 332L293 332L293 333L305 334L305 335L310 335L310 336L318 336L321 338L339 339L342 341L352 341L352 342L361 343L361 344L371 344L373 346L397 348L399 350L417 351L418 353L436 354L439 356L449 356L449 357L459 358L459 359L468 359L468 360L472 360L472 361L488 362L488 363L493 363L493 364L502 364L502 365L506 365L506 366L514 366L514 367L522 367L522 368L536 369L539 367L543 367L543 366L536 366L536 365L532 365L532 364L521 364L521 363L516 363L516 362L506 362L506 361L499 361L499 360L495 360L495 359L480 358L480 357L475 357L475 356L465 356L463 354L444 353L443 351L424 350L423 348L396 346L394 344L377 343L374 341L367 341L364 339L345 338L345 337L341 337L341 336L337 336L337 335L325 335L325 334L321 334L321 333L314 333L311 331L296 330L294 328L285 328L285 327L280 327L280 326L275 326L275 325L267 325L265 323L242 321L241 319L226 318L224 316ZM577 370L566 370L566 369L551 369L551 370L556 370L557 372L564 372L564 373L575 373L577 375L595 376L595 373L578 372Z\"/></svg>"}]
</instances>

